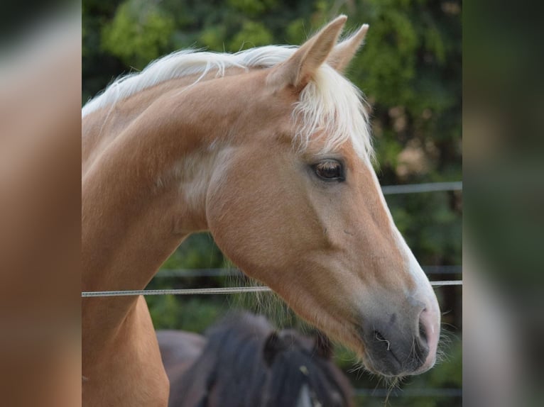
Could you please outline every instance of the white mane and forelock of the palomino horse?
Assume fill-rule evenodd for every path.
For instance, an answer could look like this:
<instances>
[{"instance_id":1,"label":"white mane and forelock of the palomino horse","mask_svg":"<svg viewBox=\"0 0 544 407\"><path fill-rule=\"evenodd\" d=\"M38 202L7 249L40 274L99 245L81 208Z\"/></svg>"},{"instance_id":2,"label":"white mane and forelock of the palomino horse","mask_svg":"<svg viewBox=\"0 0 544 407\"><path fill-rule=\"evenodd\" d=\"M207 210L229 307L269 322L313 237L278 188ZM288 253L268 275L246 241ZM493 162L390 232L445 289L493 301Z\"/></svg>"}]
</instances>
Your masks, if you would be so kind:
<instances>
[{"instance_id":1,"label":"white mane and forelock of the palomino horse","mask_svg":"<svg viewBox=\"0 0 544 407\"><path fill-rule=\"evenodd\" d=\"M173 52L151 62L141 72L116 79L85 104L82 117L170 79L200 74L197 83L214 70L217 70L217 77L222 77L230 67L246 70L273 67L287 60L297 49L288 45L268 45L235 54L195 50ZM369 161L374 157L361 91L327 64L320 67L314 80L301 92L293 118L299 125L297 138L301 148L308 145L316 132L322 132L327 137L324 151L351 140L359 157Z\"/></svg>"}]
</instances>

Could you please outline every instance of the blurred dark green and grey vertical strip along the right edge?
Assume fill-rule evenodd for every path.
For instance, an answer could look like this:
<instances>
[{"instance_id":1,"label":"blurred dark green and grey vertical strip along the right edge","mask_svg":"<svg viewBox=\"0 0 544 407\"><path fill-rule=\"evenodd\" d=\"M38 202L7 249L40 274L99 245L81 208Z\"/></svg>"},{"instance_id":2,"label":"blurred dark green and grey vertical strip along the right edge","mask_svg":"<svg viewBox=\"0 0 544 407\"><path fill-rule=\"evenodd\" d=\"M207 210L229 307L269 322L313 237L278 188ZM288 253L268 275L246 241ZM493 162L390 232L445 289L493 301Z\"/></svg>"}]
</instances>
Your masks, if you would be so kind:
<instances>
[{"instance_id":1,"label":"blurred dark green and grey vertical strip along the right edge","mask_svg":"<svg viewBox=\"0 0 544 407\"><path fill-rule=\"evenodd\" d=\"M544 157L536 2L464 13L464 403L542 406Z\"/></svg>"}]
</instances>

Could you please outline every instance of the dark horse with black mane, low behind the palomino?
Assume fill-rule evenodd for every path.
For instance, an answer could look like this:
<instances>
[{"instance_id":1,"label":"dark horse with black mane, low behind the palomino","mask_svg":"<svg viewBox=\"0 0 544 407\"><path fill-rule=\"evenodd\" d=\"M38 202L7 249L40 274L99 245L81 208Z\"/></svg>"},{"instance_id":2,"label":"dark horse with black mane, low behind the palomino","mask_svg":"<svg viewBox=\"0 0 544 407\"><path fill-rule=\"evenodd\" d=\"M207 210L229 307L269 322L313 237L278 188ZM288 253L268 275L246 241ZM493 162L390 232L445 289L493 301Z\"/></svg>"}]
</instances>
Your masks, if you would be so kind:
<instances>
[{"instance_id":1,"label":"dark horse with black mane, low behind the palomino","mask_svg":"<svg viewBox=\"0 0 544 407\"><path fill-rule=\"evenodd\" d=\"M353 405L352 387L321 335L315 340L295 330L276 332L265 318L250 313L214 325L207 342L187 335L157 332L170 379L169 407Z\"/></svg>"}]
</instances>

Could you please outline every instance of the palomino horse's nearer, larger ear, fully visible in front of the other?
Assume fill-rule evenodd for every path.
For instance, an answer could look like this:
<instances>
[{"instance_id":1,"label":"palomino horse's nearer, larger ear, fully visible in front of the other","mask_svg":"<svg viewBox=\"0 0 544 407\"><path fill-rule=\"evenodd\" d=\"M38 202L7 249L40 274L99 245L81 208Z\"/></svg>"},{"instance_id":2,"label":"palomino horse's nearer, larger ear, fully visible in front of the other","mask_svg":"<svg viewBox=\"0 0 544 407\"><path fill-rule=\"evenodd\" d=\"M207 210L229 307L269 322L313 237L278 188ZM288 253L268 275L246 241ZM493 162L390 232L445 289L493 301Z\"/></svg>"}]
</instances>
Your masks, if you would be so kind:
<instances>
[{"instance_id":1,"label":"palomino horse's nearer, larger ear, fully visible in front of the other","mask_svg":"<svg viewBox=\"0 0 544 407\"><path fill-rule=\"evenodd\" d=\"M266 79L276 89L293 86L301 89L310 82L317 69L327 60L346 23L346 16L338 16L306 41L291 57L274 68Z\"/></svg>"}]
</instances>

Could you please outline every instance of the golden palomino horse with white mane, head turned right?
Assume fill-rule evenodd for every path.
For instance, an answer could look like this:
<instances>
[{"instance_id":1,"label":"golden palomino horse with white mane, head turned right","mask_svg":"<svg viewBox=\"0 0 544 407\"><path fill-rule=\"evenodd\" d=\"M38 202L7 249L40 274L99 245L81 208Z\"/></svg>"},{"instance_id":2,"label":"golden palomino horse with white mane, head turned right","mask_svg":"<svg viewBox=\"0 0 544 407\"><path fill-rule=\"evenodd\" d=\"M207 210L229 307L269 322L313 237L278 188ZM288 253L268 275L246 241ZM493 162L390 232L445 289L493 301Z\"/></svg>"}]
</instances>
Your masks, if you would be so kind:
<instances>
[{"instance_id":1,"label":"golden palomino horse with white mane, head turned right","mask_svg":"<svg viewBox=\"0 0 544 407\"><path fill-rule=\"evenodd\" d=\"M82 288L143 289L210 230L250 277L371 372L435 363L436 296L371 165L360 92L341 72L368 26L339 16L300 48L177 52L82 111ZM86 406L166 406L143 297L82 301Z\"/></svg>"}]
</instances>

